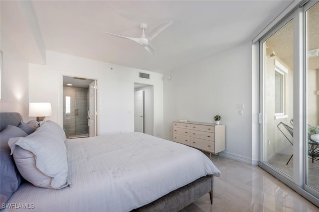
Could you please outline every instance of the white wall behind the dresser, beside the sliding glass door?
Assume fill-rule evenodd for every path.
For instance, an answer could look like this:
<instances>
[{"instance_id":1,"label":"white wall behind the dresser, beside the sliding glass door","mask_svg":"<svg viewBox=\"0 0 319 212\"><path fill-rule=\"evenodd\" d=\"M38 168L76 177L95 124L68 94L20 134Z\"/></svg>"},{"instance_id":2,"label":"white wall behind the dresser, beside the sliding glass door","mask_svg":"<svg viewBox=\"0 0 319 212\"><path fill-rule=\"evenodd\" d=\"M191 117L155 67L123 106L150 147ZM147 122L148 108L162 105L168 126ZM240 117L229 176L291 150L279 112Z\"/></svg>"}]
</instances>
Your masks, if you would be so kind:
<instances>
[{"instance_id":1,"label":"white wall behind the dresser, beside the sliding glass door","mask_svg":"<svg viewBox=\"0 0 319 212\"><path fill-rule=\"evenodd\" d=\"M252 163L251 42L173 70L163 79L164 138L172 139L173 120L212 122L220 114L226 124L221 155ZM243 115L238 104L244 104Z\"/></svg>"}]
</instances>

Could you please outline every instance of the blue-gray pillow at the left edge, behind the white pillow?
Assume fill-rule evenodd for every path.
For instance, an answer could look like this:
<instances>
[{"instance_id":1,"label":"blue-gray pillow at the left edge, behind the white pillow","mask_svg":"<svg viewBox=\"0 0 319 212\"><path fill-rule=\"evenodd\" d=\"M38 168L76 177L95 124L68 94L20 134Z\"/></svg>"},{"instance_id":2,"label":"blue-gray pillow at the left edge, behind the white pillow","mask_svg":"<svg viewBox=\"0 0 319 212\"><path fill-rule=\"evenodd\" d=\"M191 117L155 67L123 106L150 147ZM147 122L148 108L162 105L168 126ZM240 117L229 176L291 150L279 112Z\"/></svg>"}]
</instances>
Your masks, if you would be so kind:
<instances>
[{"instance_id":1,"label":"blue-gray pillow at the left edge, behind the white pillow","mask_svg":"<svg viewBox=\"0 0 319 212\"><path fill-rule=\"evenodd\" d=\"M0 132L0 204L6 203L21 185L22 177L16 169L12 155L10 155L10 147L8 140L11 137L24 137L27 134L20 128L8 125Z\"/></svg>"}]
</instances>

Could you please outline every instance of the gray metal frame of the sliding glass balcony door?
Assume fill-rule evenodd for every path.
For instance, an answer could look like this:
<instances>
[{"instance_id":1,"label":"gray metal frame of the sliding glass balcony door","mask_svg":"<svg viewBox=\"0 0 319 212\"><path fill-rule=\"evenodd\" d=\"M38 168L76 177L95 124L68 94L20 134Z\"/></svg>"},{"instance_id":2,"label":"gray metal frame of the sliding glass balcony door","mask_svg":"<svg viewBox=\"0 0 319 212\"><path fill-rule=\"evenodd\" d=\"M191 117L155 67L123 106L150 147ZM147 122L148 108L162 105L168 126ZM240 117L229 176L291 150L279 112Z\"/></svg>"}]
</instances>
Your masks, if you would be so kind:
<instances>
[{"instance_id":1,"label":"gray metal frame of the sliding glass balcony door","mask_svg":"<svg viewBox=\"0 0 319 212\"><path fill-rule=\"evenodd\" d=\"M318 1L313 2L313 4L317 3ZM259 112L255 110L254 112L256 115L256 124L253 124L253 127L259 125L259 135L254 134L254 138L258 140L259 145L259 161L258 165L269 172L271 175L285 183L287 186L295 190L297 193L305 197L307 200L315 204L319 207L318 196L315 197L315 194L311 191L306 185L306 160L307 160L307 142L303 142L304 139L307 139L307 129L306 129L306 79L305 79L305 72L306 72L306 45L305 45L305 17L304 11L305 3L308 5L310 4L309 1L300 1L296 2L293 7L290 7L288 10L285 10L286 14L284 16L281 14L280 20L275 19L270 25L274 28L277 28L281 25L282 22L286 22L286 18L290 15L294 16L294 143L296 144L297 148L294 145L294 157L300 158L299 160L294 160L294 179L289 180L283 174L277 172L276 170L272 169L266 163L263 163L263 124L264 124L264 117L263 117L263 104L264 104L264 96L263 96L263 71L262 70L262 63L263 57L261 54L260 49L260 40L263 40L263 36L267 36L271 33L269 28L267 32L263 31L261 34L258 35L253 40L253 80L257 79L257 83L253 82L253 87L259 91L259 95L253 92L253 103L259 105ZM287 16L287 17L285 17ZM269 31L268 31L269 30ZM258 80L259 78L259 80ZM259 114L259 115L257 115ZM259 121L257 121L257 116ZM257 124L258 123L258 124ZM307 188L308 187L308 188Z\"/></svg>"}]
</instances>

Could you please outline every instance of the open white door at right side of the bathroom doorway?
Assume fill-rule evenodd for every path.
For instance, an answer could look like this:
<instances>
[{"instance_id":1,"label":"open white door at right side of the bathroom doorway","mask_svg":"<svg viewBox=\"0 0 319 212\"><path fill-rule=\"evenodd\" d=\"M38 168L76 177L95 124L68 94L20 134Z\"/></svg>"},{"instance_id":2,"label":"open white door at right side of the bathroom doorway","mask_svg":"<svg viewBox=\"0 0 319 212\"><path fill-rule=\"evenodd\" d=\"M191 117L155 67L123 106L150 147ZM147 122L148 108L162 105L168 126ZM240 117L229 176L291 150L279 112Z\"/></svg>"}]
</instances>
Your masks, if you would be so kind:
<instances>
[{"instance_id":1,"label":"open white door at right side of the bathroom doorway","mask_svg":"<svg viewBox=\"0 0 319 212\"><path fill-rule=\"evenodd\" d=\"M97 136L97 82L94 80L90 84L90 96L89 96L89 129L90 129L90 137Z\"/></svg>"}]
</instances>

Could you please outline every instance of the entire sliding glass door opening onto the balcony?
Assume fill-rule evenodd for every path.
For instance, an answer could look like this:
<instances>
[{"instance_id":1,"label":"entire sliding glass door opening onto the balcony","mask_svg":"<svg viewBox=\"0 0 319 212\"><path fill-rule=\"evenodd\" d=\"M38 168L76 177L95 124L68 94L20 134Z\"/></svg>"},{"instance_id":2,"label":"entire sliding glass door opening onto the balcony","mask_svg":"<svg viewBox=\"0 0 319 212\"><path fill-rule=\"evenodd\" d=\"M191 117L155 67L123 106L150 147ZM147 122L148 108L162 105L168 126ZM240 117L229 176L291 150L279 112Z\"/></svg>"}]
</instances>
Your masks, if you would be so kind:
<instances>
[{"instance_id":1,"label":"entire sliding glass door opening onto the balcony","mask_svg":"<svg viewBox=\"0 0 319 212\"><path fill-rule=\"evenodd\" d=\"M260 161L319 206L319 1L259 40Z\"/></svg>"}]
</instances>

